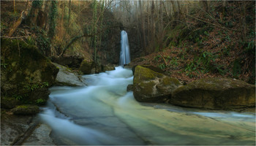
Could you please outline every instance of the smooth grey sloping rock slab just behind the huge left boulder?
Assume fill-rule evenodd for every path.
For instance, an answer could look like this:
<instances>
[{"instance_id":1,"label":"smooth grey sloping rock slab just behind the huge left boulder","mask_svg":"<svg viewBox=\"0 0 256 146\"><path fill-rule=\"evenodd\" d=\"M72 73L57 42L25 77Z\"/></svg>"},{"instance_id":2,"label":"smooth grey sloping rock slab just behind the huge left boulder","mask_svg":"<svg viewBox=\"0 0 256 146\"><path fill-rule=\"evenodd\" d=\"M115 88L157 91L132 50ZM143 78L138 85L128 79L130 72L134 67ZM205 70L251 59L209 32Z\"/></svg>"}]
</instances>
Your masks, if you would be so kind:
<instances>
[{"instance_id":1,"label":"smooth grey sloping rock slab just behind the huge left boulder","mask_svg":"<svg viewBox=\"0 0 256 146\"><path fill-rule=\"evenodd\" d=\"M59 64L53 63L56 67L59 68L59 73L56 77L55 85L67 85L67 86L84 86L86 83L83 80L83 77L80 77L77 74L74 74L72 70L67 67L61 66Z\"/></svg>"}]
</instances>

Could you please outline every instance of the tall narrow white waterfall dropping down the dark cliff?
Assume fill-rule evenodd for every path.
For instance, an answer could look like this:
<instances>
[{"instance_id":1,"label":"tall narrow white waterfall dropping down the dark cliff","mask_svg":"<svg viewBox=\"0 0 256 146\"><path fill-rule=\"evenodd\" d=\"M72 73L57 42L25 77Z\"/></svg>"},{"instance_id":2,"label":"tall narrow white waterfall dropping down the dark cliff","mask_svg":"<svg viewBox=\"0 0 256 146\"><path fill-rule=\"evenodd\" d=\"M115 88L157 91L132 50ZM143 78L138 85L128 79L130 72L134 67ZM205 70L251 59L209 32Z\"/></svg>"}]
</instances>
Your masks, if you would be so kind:
<instances>
[{"instance_id":1,"label":"tall narrow white waterfall dropping down the dark cliff","mask_svg":"<svg viewBox=\"0 0 256 146\"><path fill-rule=\"evenodd\" d=\"M124 64L129 64L129 42L126 31L121 31L121 53L119 64L124 66Z\"/></svg>"}]
</instances>

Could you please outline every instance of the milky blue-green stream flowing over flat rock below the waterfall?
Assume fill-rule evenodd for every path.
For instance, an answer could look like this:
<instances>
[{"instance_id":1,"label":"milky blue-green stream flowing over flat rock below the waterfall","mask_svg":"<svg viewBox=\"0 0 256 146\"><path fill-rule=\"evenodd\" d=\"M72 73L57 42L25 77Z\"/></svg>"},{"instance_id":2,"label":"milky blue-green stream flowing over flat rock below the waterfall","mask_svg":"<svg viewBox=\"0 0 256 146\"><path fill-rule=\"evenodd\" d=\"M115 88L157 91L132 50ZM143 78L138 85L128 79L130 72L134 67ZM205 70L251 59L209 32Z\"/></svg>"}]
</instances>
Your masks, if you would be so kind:
<instances>
[{"instance_id":1,"label":"milky blue-green stream flowing over flat rock below the waterfall","mask_svg":"<svg viewBox=\"0 0 256 146\"><path fill-rule=\"evenodd\" d=\"M255 114L138 103L132 71L84 76L86 87L53 87L40 114L57 145L255 145Z\"/></svg>"}]
</instances>

